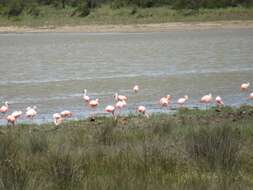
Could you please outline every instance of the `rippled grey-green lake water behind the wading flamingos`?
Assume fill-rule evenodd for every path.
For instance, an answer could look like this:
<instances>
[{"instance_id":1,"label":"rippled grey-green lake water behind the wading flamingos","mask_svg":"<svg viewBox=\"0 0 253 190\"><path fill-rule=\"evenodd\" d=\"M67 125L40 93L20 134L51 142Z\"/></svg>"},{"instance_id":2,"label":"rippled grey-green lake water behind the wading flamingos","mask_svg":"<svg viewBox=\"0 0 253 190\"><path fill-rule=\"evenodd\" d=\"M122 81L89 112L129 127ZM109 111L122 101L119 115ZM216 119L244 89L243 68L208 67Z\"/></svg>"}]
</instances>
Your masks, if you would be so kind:
<instances>
[{"instance_id":1,"label":"rippled grey-green lake water behind the wading flamingos","mask_svg":"<svg viewBox=\"0 0 253 190\"><path fill-rule=\"evenodd\" d=\"M127 112L138 105L165 111L158 101L166 94L174 101L188 94L189 107L201 107L199 98L209 92L228 105L252 104L239 88L253 84L253 30L2 33L0 71L1 104L9 101L10 112L36 105L38 123L64 109L87 117L84 88L100 98L99 113L115 92L129 97Z\"/></svg>"}]
</instances>

